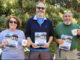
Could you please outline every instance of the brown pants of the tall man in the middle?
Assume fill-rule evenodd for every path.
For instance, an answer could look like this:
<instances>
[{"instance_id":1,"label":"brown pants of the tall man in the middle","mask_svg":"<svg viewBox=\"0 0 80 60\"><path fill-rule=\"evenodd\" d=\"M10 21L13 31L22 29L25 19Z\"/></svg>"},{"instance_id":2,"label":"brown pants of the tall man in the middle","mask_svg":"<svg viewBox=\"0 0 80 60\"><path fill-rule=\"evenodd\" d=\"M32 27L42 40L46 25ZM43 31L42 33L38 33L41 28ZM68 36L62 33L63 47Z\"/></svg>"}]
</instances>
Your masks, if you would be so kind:
<instances>
[{"instance_id":1,"label":"brown pants of the tall man in the middle","mask_svg":"<svg viewBox=\"0 0 80 60\"><path fill-rule=\"evenodd\" d=\"M31 51L29 54L29 60L50 60L50 53Z\"/></svg>"}]
</instances>

